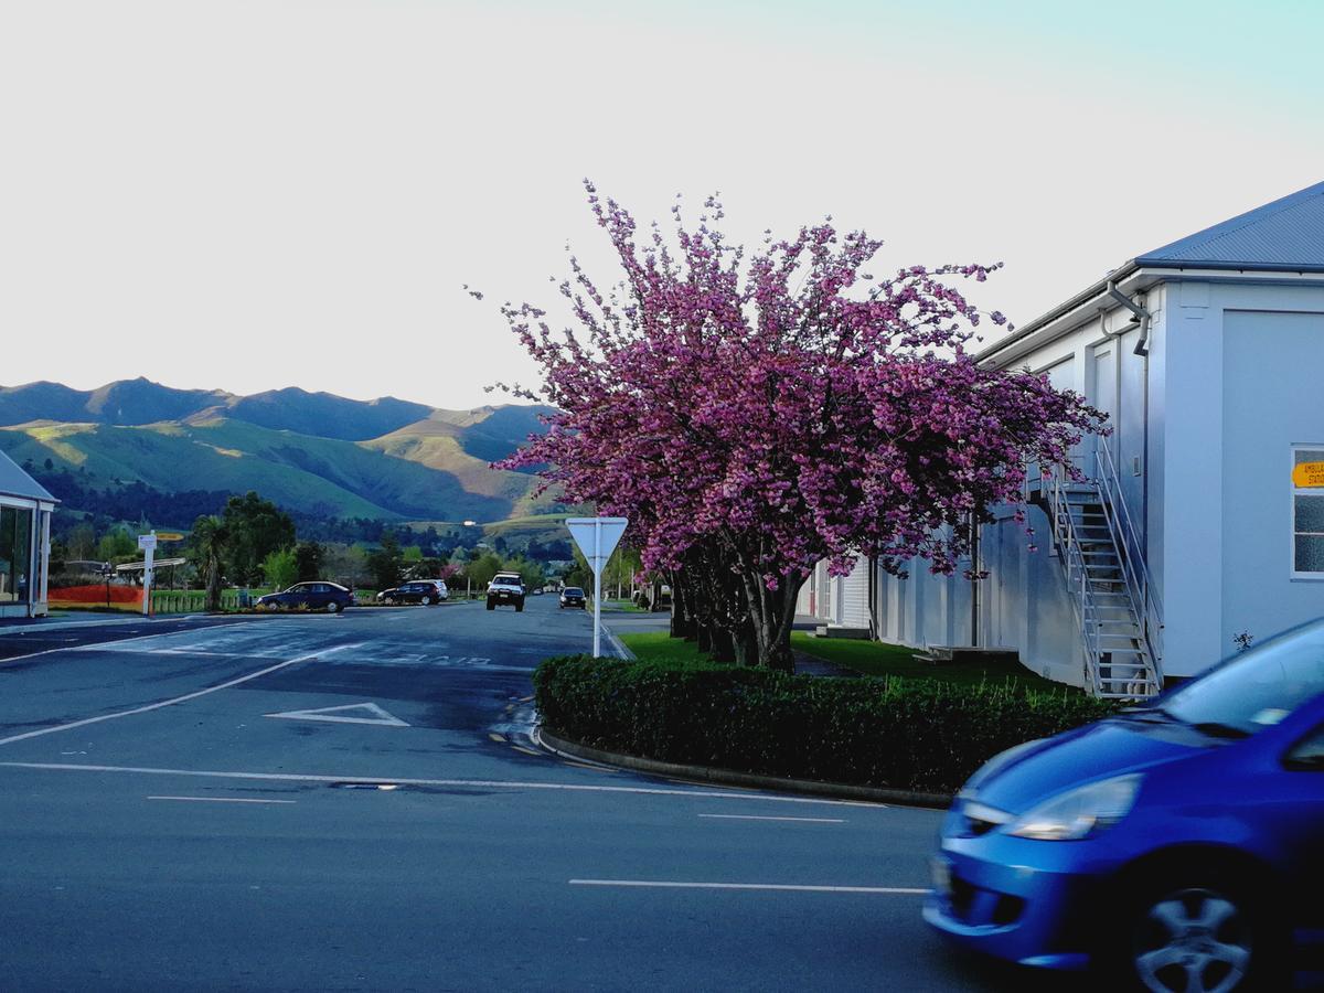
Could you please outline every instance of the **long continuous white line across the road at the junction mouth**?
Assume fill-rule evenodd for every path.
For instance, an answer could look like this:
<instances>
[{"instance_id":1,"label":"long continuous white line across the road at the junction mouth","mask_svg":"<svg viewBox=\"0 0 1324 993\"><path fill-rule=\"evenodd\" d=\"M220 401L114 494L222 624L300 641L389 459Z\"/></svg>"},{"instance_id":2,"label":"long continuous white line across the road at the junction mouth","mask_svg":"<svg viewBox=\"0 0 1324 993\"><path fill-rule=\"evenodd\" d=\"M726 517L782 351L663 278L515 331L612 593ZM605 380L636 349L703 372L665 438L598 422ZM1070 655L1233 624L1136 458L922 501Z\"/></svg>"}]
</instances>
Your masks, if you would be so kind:
<instances>
[{"instance_id":1,"label":"long continuous white line across the road at the junction mouth","mask_svg":"<svg viewBox=\"0 0 1324 993\"><path fill-rule=\"evenodd\" d=\"M347 646L348 647L348 646ZM217 687L220 688L220 687ZM4 744L0 740L0 744ZM528 780L416 780L395 779L388 776L319 776L297 772L221 772L211 769L160 769L139 765L74 765L66 763L4 763L0 768L7 769L40 769L45 772L119 772L136 773L140 776L192 776L199 779L229 779L229 780L260 780L263 782L389 782L399 786L458 786L473 789L547 789L565 790L569 793L638 793L650 796L691 797L695 800L751 800L767 801L769 804L818 804L826 806L839 806L850 804L859 806L859 801L821 800L818 797L785 797L776 794L761 794L752 797L749 793L724 793L722 790L703 789L663 789L659 786L597 786L584 782L536 782ZM879 805L876 809L886 809Z\"/></svg>"}]
</instances>

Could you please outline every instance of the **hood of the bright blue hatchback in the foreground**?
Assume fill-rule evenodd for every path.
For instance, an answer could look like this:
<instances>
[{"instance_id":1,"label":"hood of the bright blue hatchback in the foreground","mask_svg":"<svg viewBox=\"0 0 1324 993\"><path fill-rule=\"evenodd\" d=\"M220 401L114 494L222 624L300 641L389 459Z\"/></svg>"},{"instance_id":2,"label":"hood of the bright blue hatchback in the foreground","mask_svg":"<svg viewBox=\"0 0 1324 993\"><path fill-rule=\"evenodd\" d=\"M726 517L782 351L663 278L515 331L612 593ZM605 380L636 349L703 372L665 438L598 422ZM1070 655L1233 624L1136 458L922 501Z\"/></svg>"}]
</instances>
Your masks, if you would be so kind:
<instances>
[{"instance_id":1,"label":"hood of the bright blue hatchback in the foreground","mask_svg":"<svg viewBox=\"0 0 1324 993\"><path fill-rule=\"evenodd\" d=\"M992 759L970 777L963 794L1018 814L1072 786L1189 760L1206 751L1194 740L1184 743L1152 727L1103 720L1019 745L1004 753L1005 759Z\"/></svg>"}]
</instances>

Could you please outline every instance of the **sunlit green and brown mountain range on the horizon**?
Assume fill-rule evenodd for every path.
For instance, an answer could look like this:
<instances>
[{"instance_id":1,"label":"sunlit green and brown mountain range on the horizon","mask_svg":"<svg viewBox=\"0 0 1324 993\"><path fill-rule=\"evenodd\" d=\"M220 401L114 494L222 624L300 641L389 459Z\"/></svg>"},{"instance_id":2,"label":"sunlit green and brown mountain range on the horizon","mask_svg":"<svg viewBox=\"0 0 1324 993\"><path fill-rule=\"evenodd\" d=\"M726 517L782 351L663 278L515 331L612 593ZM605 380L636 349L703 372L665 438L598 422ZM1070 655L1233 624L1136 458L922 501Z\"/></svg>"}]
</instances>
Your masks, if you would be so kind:
<instances>
[{"instance_id":1,"label":"sunlit green and brown mountain range on the horizon","mask_svg":"<svg viewBox=\"0 0 1324 993\"><path fill-rule=\"evenodd\" d=\"M0 387L0 450L38 478L77 474L85 489L257 490L320 516L493 522L538 508L532 475L489 462L543 430L539 416L551 412L298 388L238 396L147 379L91 391L42 381Z\"/></svg>"}]
</instances>

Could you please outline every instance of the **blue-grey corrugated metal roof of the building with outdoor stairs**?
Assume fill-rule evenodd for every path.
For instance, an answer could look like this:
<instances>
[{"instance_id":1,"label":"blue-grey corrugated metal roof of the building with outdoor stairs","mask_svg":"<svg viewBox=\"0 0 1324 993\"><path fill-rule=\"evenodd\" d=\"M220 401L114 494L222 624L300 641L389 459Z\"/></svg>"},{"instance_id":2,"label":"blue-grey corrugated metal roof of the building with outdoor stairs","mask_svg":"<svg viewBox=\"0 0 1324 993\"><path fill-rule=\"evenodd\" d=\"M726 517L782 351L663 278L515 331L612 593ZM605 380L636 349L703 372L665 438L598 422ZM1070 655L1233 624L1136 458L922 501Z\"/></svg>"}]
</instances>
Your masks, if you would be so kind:
<instances>
[{"instance_id":1,"label":"blue-grey corrugated metal roof of the building with outdoor stairs","mask_svg":"<svg viewBox=\"0 0 1324 993\"><path fill-rule=\"evenodd\" d=\"M1136 257L1190 269L1324 271L1324 183Z\"/></svg>"}]
</instances>

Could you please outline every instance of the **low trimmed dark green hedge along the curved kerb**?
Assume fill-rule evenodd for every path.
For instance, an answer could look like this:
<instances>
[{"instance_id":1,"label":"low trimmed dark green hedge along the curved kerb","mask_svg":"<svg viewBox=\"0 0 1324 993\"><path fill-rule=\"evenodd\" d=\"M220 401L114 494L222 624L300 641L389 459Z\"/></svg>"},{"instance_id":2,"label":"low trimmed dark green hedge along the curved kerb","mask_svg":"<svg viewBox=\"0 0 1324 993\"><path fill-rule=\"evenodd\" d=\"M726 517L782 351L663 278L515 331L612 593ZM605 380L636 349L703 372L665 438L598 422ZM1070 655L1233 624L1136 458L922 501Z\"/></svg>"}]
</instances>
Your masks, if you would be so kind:
<instances>
[{"instance_id":1,"label":"low trimmed dark green hedge along the curved kerb","mask_svg":"<svg viewBox=\"0 0 1324 993\"><path fill-rule=\"evenodd\" d=\"M838 679L568 655L534 673L543 723L659 761L951 793L985 760L1116 704L1014 686Z\"/></svg>"}]
</instances>

